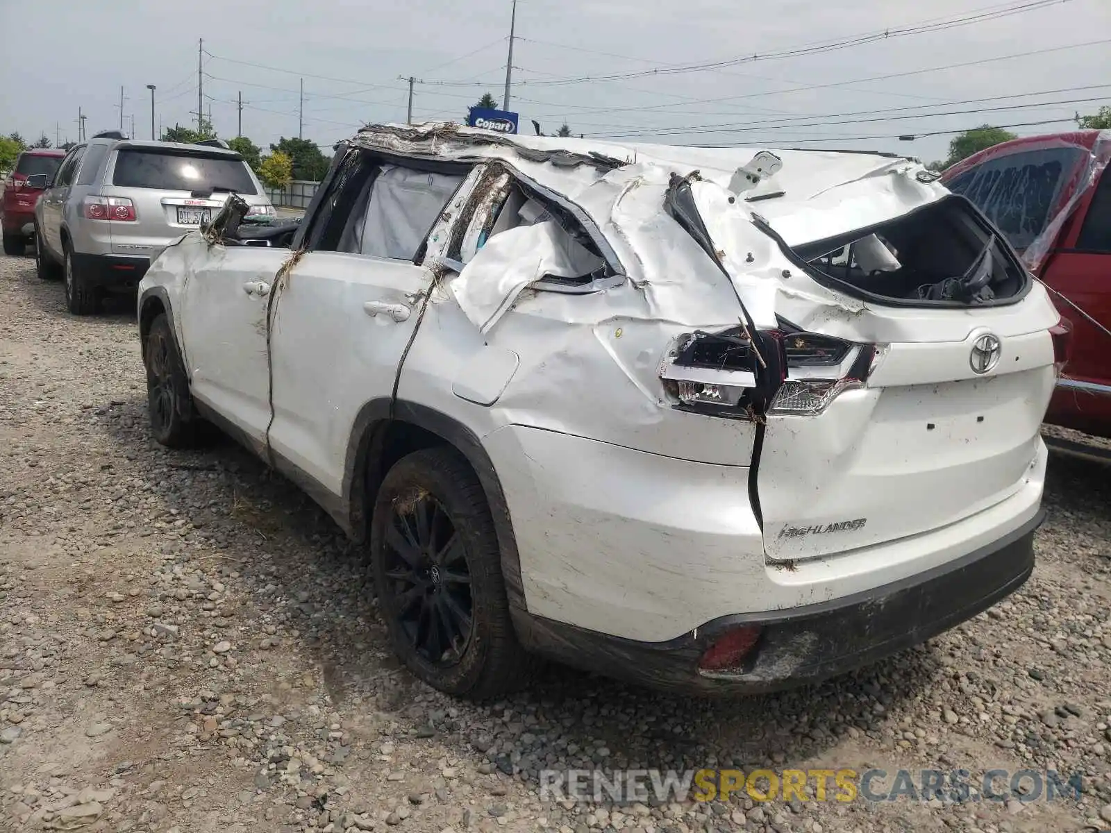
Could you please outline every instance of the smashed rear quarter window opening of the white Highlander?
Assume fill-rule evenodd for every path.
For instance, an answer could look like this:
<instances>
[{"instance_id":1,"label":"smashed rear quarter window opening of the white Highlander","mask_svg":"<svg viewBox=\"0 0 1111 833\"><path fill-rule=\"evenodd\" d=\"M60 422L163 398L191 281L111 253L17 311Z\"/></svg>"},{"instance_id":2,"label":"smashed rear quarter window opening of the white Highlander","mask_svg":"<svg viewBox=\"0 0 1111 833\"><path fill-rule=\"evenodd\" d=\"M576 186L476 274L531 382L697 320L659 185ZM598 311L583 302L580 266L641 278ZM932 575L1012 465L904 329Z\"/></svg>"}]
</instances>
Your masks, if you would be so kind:
<instances>
[{"instance_id":1,"label":"smashed rear quarter window opening of the white Highlander","mask_svg":"<svg viewBox=\"0 0 1111 833\"><path fill-rule=\"evenodd\" d=\"M449 249L449 257L464 265L497 235L510 229L548 223L557 235L558 245L567 254L567 261L575 263L579 272L574 275L546 274L546 283L580 287L609 277L605 258L598 250L593 239L577 218L560 205L527 189L522 183L507 177L502 188L484 191L479 199L491 200L490 210L476 210L470 222Z\"/></svg>"}]
</instances>

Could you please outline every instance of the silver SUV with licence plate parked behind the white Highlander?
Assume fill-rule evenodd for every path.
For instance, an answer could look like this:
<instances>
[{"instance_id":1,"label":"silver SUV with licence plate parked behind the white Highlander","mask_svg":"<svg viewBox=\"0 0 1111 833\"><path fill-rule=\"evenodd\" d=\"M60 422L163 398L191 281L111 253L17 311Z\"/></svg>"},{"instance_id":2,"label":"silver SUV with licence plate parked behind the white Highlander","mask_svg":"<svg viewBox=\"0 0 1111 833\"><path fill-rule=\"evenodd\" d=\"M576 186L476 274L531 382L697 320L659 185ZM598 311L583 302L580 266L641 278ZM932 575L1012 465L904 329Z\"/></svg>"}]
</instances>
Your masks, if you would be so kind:
<instances>
[{"instance_id":1,"label":"silver SUV with licence plate parked behind the white Highlander","mask_svg":"<svg viewBox=\"0 0 1111 833\"><path fill-rule=\"evenodd\" d=\"M96 312L104 292L134 290L151 253L211 219L228 193L274 214L243 158L212 145L97 136L36 184L47 188L34 211L39 277L60 268L76 315Z\"/></svg>"}]
</instances>

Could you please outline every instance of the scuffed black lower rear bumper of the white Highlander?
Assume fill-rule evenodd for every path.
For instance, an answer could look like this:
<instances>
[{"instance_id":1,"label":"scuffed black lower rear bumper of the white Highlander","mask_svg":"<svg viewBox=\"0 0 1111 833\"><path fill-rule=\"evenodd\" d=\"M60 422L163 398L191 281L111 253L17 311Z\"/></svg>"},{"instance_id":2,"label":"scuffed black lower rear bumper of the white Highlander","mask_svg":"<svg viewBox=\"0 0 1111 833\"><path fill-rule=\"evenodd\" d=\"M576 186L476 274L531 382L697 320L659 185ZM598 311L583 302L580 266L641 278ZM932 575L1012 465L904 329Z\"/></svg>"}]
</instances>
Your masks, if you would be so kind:
<instances>
[{"instance_id":1,"label":"scuffed black lower rear bumper of the white Highlander","mask_svg":"<svg viewBox=\"0 0 1111 833\"><path fill-rule=\"evenodd\" d=\"M637 642L524 613L514 625L538 653L670 692L759 694L817 683L917 645L1018 590L1033 570L1033 534L1043 518L1039 512L1003 539L909 579L792 610L722 616L669 642ZM743 663L712 676L700 672L707 649L742 625L762 628Z\"/></svg>"}]
</instances>

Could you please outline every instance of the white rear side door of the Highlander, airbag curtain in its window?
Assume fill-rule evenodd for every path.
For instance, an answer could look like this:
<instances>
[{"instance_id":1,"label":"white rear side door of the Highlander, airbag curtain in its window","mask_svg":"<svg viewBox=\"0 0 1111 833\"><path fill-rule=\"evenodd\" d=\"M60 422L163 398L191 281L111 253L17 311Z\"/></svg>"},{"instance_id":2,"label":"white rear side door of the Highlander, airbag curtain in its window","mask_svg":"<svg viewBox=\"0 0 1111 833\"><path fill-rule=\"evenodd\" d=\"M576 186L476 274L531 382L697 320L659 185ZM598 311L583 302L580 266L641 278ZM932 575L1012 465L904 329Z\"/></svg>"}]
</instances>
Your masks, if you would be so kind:
<instances>
[{"instance_id":1,"label":"white rear side door of the Highlander, airbag curtain in its window","mask_svg":"<svg viewBox=\"0 0 1111 833\"><path fill-rule=\"evenodd\" d=\"M444 242L430 230L473 183L468 171L349 150L310 218L308 253L276 288L270 446L332 494L359 410L392 395Z\"/></svg>"}]
</instances>

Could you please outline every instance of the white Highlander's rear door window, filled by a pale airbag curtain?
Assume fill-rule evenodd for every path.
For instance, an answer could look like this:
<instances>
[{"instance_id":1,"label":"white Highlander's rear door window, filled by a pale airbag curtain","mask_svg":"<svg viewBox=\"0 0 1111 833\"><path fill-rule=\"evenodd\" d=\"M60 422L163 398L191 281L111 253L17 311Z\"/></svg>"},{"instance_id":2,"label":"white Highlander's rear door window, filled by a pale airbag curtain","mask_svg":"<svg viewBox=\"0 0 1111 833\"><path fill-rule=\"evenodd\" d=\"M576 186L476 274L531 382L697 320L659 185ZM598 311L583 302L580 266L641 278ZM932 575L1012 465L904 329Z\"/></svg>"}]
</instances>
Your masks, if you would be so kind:
<instances>
[{"instance_id":1,"label":"white Highlander's rear door window, filled by a pale airbag curtain","mask_svg":"<svg viewBox=\"0 0 1111 833\"><path fill-rule=\"evenodd\" d=\"M413 260L464 174L382 164L362 189L338 250Z\"/></svg>"}]
</instances>

